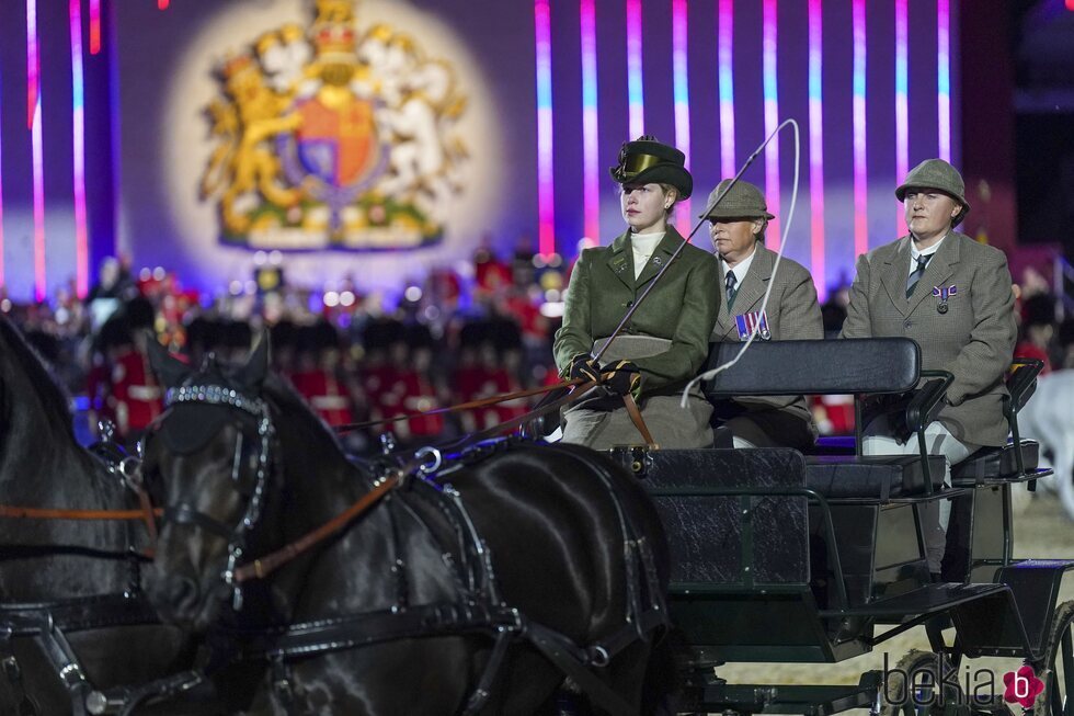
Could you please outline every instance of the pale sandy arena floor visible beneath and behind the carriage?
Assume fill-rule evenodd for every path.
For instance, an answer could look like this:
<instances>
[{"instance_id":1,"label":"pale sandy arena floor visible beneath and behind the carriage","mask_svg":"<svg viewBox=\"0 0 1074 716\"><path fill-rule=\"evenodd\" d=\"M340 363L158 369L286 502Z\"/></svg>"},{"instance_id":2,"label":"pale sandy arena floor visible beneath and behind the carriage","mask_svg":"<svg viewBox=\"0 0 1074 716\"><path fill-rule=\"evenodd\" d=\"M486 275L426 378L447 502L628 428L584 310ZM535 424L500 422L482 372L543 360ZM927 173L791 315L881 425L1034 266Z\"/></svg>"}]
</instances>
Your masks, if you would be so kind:
<instances>
[{"instance_id":1,"label":"pale sandy arena floor visible beneath and behind the carriage","mask_svg":"<svg viewBox=\"0 0 1074 716\"><path fill-rule=\"evenodd\" d=\"M1015 556L1059 559L1074 558L1074 522L1063 513L1053 495L1033 495L1015 516ZM1074 575L1067 575L1060 593L1060 603L1074 600ZM835 664L801 663L735 663L717 669L730 683L772 684L856 684L864 671L883 669L884 655L891 667L910 649L928 649L925 629L918 627L877 647L871 654ZM997 681L1017 669L1017 659L974 659L971 668L992 669ZM966 667L962 667L966 671ZM961 681L962 679L960 679ZM974 682L975 683L975 682Z\"/></svg>"}]
</instances>

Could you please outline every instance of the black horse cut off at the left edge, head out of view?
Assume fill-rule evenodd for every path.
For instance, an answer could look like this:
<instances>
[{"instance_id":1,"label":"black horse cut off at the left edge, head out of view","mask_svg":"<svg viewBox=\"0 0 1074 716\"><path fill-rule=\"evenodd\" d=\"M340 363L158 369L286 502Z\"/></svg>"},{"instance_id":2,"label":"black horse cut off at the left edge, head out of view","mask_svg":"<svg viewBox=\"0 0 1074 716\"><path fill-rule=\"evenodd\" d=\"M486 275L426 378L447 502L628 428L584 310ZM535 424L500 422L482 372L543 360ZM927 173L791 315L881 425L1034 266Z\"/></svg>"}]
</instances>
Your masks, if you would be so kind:
<instances>
[{"instance_id":1,"label":"black horse cut off at the left edge, head out of view","mask_svg":"<svg viewBox=\"0 0 1074 716\"><path fill-rule=\"evenodd\" d=\"M119 477L78 444L66 396L0 316L0 503L116 510L133 502ZM145 533L137 522L0 516L0 713L82 714L94 687L190 666L184 633L137 596L130 548L145 547ZM48 618L55 628L45 628Z\"/></svg>"}]
</instances>

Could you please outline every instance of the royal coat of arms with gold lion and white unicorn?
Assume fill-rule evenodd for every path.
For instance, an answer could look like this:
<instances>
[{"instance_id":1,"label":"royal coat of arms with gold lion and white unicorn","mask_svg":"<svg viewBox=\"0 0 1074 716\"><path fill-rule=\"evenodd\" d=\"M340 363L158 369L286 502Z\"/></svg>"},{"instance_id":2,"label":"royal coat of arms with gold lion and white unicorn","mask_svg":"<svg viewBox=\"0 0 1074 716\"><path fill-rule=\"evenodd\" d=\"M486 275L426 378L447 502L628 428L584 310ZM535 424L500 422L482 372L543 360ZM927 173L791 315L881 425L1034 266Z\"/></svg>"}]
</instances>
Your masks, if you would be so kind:
<instances>
[{"instance_id":1,"label":"royal coat of arms with gold lion and white unicorn","mask_svg":"<svg viewBox=\"0 0 1074 716\"><path fill-rule=\"evenodd\" d=\"M225 243L399 249L436 243L462 186L466 111L454 68L354 0L317 0L222 59L202 177Z\"/></svg>"}]
</instances>

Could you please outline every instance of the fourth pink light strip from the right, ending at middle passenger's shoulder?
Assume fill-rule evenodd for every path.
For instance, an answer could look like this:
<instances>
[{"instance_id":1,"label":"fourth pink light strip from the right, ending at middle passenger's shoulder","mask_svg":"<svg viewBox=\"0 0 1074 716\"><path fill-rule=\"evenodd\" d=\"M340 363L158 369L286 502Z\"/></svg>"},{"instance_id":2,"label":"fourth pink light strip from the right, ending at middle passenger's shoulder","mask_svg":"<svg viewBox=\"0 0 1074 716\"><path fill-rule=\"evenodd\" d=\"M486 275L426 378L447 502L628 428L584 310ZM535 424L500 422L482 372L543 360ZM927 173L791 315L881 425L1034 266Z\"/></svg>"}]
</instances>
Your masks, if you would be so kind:
<instances>
[{"instance_id":1,"label":"fourth pink light strip from the right, ending at middle passenger's shoulder","mask_svg":"<svg viewBox=\"0 0 1074 716\"><path fill-rule=\"evenodd\" d=\"M821 0L809 0L809 260L816 293L827 298L824 266L824 107L821 67L823 34Z\"/></svg>"}]
</instances>

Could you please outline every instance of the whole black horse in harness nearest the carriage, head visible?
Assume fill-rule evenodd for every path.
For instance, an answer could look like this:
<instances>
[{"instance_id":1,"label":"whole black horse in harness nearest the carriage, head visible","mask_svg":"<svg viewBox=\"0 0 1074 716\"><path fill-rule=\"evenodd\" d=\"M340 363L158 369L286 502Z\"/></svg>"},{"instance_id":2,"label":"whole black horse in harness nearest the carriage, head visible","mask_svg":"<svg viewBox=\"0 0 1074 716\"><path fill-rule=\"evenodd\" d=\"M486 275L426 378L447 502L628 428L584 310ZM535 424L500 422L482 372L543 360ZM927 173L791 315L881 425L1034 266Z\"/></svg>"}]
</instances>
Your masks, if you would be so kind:
<instances>
[{"instance_id":1,"label":"whole black horse in harness nearest the carriage, head visible","mask_svg":"<svg viewBox=\"0 0 1074 716\"><path fill-rule=\"evenodd\" d=\"M642 684L667 556L651 502L621 468L574 447L469 451L426 465L255 589L239 587L243 565L384 475L350 462L266 375L265 342L235 368L150 357L172 401L146 447L164 505L147 591L199 633L290 625L227 634L239 659L273 663L255 712L548 713L564 672L597 711L650 711Z\"/></svg>"}]
</instances>

